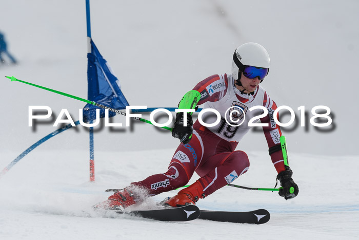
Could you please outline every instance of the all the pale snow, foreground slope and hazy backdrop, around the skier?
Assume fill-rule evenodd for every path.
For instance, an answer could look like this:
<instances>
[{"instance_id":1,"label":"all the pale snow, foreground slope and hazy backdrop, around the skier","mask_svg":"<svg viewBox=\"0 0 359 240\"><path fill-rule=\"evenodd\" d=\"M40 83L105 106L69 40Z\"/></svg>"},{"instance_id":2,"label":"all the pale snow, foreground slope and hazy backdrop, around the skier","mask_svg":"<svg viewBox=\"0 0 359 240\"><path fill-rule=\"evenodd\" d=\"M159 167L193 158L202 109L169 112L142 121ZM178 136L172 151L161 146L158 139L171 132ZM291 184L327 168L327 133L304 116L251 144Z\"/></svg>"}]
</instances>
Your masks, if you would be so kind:
<instances>
[{"instance_id":1,"label":"all the pale snow, foreground slope and hazy backdrop, around the skier","mask_svg":"<svg viewBox=\"0 0 359 240\"><path fill-rule=\"evenodd\" d=\"M19 61L0 65L0 76L86 98L85 1L13 0L4 1L0 10L0 31ZM267 224L252 226L96 215L91 206L109 196L104 190L165 172L178 140L142 122L133 122L131 130L97 128L96 181L90 183L88 133L72 128L0 179L0 239L357 239L358 131L352 120L359 117L354 105L358 81L351 72L359 62L358 10L357 1L91 0L93 40L130 104L175 106L198 81L229 71L233 50L251 41L270 54L270 74L262 85L276 103L294 110L327 105L334 130L308 126L285 132L298 197L285 201L277 193L225 187L198 202L203 209L271 212ZM56 129L49 123L29 127L29 105L50 106L54 118L67 108L74 120L84 106L5 78L0 100L0 170ZM263 134L250 132L238 149L248 153L251 167L234 183L273 187L276 172Z\"/></svg>"}]
</instances>

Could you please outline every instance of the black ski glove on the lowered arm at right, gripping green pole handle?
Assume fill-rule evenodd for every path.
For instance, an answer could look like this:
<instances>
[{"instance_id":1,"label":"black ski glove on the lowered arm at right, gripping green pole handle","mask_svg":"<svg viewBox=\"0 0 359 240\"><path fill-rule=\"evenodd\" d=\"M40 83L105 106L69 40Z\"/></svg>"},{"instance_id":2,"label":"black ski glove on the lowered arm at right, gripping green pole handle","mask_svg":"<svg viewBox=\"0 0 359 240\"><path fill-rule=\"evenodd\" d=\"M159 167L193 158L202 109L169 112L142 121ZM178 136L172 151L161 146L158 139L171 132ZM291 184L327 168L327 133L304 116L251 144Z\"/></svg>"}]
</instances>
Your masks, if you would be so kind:
<instances>
[{"instance_id":1,"label":"black ski glove on the lowered arm at right, gripping green pole handle","mask_svg":"<svg viewBox=\"0 0 359 240\"><path fill-rule=\"evenodd\" d=\"M292 179L293 172L290 170L288 166L286 166L286 170L280 172L277 175L277 180L281 182L282 188L280 188L278 194L281 197L284 197L286 200L296 197L298 195L299 189L297 184Z\"/></svg>"}]
</instances>

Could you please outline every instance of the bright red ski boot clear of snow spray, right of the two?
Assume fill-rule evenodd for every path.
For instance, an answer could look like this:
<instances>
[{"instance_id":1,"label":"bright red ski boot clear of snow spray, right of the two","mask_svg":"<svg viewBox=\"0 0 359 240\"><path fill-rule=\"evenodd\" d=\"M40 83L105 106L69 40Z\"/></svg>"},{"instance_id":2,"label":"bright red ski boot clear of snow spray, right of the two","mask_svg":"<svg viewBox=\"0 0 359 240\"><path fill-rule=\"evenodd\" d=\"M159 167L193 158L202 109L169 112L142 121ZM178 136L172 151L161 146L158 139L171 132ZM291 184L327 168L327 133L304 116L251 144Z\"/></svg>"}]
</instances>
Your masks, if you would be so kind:
<instances>
[{"instance_id":1,"label":"bright red ski boot clear of snow spray, right of the two","mask_svg":"<svg viewBox=\"0 0 359 240\"><path fill-rule=\"evenodd\" d=\"M199 181L194 182L188 188L178 192L177 195L168 199L165 204L172 207L181 207L186 205L196 205L200 198L205 198L202 185Z\"/></svg>"}]
</instances>

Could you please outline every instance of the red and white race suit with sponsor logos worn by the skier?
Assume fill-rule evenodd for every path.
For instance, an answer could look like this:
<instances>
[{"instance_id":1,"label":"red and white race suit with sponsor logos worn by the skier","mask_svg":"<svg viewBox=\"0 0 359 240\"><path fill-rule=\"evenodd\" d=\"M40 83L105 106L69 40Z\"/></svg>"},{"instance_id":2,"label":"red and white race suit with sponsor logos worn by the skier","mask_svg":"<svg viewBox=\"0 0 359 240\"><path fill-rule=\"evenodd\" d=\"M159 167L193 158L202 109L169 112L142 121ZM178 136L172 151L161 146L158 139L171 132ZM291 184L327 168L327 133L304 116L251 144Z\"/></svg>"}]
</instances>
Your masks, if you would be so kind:
<instances>
[{"instance_id":1,"label":"red and white race suit with sponsor logos worn by the skier","mask_svg":"<svg viewBox=\"0 0 359 240\"><path fill-rule=\"evenodd\" d=\"M193 125L191 141L179 144L166 173L131 183L145 188L149 195L182 187L196 172L207 196L247 172L248 156L243 151L235 151L235 148L250 130L249 121L257 116L261 117L257 117L253 123L261 120L262 124L267 124L263 126L263 130L268 147L280 144L281 129L273 120L277 106L262 86L258 86L253 95L241 94L235 87L232 76L223 74L206 78L193 90L201 93L201 100L197 105L204 104L204 109L216 109L221 115L221 121L215 126L205 127L197 120ZM263 106L266 111L259 108L250 111L254 106ZM206 123L213 123L216 120L214 116L205 113L202 119ZM235 126L235 121L243 123ZM285 170L281 151L274 152L270 157L278 173Z\"/></svg>"}]
</instances>

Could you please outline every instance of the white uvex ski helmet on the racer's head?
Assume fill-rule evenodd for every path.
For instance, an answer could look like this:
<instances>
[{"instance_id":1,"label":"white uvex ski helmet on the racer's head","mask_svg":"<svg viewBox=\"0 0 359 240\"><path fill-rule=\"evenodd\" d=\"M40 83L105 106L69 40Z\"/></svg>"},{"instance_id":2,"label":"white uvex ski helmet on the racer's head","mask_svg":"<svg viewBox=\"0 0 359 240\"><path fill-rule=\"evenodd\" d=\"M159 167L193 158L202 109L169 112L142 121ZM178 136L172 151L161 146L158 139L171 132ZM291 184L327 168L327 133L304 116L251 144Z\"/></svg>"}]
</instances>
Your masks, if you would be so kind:
<instances>
[{"instance_id":1,"label":"white uvex ski helmet on the racer's head","mask_svg":"<svg viewBox=\"0 0 359 240\"><path fill-rule=\"evenodd\" d=\"M232 76L234 80L238 80L239 72L244 70L244 66L267 68L269 71L270 59L267 50L257 43L245 43L237 47L232 61Z\"/></svg>"}]
</instances>

